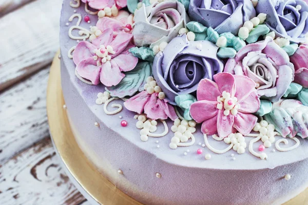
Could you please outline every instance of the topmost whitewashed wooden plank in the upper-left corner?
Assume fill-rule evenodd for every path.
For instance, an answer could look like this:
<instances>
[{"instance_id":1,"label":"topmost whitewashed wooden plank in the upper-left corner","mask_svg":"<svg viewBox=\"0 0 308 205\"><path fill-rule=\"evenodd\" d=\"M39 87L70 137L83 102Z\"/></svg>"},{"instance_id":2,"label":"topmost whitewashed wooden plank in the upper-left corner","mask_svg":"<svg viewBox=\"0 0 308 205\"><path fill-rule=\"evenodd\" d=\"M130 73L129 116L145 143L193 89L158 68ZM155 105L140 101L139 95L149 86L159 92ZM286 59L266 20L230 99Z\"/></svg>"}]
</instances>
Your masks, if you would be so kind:
<instances>
[{"instance_id":1,"label":"topmost whitewashed wooden plank in the upper-left corner","mask_svg":"<svg viewBox=\"0 0 308 205\"><path fill-rule=\"evenodd\" d=\"M62 0L36 0L0 18L0 91L51 63Z\"/></svg>"}]
</instances>

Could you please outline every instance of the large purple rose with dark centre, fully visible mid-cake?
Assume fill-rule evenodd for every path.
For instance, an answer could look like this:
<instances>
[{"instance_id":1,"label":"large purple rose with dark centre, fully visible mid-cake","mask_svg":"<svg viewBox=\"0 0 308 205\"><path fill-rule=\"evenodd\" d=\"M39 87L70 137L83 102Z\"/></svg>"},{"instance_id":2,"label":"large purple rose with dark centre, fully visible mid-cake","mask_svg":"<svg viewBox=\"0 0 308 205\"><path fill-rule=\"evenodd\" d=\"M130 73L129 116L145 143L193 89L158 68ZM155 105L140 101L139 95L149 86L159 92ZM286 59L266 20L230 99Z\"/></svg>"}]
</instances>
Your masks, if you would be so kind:
<instances>
[{"instance_id":1,"label":"large purple rose with dark centre, fully visible mid-cake","mask_svg":"<svg viewBox=\"0 0 308 205\"><path fill-rule=\"evenodd\" d=\"M217 50L207 40L188 42L184 34L172 39L155 56L153 76L172 105L177 95L194 93L201 79L213 79L213 75L222 72L223 63L217 57Z\"/></svg>"}]
</instances>

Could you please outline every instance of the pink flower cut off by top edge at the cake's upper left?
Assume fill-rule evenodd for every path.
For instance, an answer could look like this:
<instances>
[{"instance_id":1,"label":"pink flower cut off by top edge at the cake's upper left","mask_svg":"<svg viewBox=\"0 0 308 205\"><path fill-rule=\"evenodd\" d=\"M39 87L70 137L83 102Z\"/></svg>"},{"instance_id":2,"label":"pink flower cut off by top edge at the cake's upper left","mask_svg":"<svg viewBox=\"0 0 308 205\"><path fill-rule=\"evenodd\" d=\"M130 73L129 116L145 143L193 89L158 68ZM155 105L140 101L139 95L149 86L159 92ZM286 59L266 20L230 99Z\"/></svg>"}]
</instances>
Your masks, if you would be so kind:
<instances>
[{"instance_id":1,"label":"pink flower cut off by top edge at the cake's upper left","mask_svg":"<svg viewBox=\"0 0 308 205\"><path fill-rule=\"evenodd\" d=\"M93 9L103 10L106 7L111 8L114 4L118 9L127 6L126 0L81 0L83 3L89 3Z\"/></svg>"}]
</instances>

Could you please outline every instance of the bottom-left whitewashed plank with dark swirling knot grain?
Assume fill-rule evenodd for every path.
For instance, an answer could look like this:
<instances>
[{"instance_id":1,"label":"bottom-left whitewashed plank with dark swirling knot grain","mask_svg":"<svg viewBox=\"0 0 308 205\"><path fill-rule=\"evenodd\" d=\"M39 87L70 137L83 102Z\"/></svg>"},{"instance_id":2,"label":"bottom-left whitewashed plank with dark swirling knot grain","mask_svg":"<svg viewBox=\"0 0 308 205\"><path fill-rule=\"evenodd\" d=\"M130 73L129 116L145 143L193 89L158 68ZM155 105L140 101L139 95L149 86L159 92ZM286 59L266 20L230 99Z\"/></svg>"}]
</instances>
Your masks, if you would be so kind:
<instances>
[{"instance_id":1,"label":"bottom-left whitewashed plank with dark swirling knot grain","mask_svg":"<svg viewBox=\"0 0 308 205\"><path fill-rule=\"evenodd\" d=\"M0 166L0 198L10 204L87 204L61 168L50 138Z\"/></svg>"}]
</instances>

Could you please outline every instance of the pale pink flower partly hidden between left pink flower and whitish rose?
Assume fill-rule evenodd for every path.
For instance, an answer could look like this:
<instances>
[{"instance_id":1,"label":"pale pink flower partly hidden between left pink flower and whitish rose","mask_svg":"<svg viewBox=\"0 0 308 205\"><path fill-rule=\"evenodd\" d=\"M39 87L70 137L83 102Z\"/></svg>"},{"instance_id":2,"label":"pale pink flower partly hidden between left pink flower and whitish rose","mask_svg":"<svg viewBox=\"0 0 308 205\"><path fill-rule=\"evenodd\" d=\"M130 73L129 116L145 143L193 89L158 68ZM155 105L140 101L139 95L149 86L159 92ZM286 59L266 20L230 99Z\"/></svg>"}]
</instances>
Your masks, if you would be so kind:
<instances>
[{"instance_id":1,"label":"pale pink flower partly hidden between left pink flower and whitish rose","mask_svg":"<svg viewBox=\"0 0 308 205\"><path fill-rule=\"evenodd\" d=\"M97 22L97 27L101 31L111 28L113 35L118 33L132 33L133 15L127 11L119 11L117 16L103 17Z\"/></svg>"}]
</instances>

